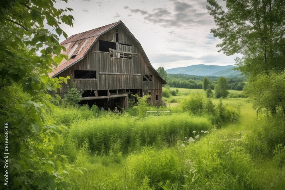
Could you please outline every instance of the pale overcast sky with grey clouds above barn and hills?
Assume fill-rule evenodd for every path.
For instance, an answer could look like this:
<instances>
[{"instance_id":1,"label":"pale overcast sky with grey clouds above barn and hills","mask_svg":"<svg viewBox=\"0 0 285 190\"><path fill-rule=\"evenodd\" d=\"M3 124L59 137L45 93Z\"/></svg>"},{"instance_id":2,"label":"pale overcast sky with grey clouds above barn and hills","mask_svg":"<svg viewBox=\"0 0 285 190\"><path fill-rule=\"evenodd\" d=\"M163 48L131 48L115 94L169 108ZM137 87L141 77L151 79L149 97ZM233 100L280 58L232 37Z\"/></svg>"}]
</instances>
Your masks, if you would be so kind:
<instances>
[{"instance_id":1,"label":"pale overcast sky with grey clouds above barn and hills","mask_svg":"<svg viewBox=\"0 0 285 190\"><path fill-rule=\"evenodd\" d=\"M218 2L225 6L222 0ZM74 27L61 26L68 36L122 20L155 69L234 65L234 59L241 55L217 52L215 46L221 40L210 32L217 26L206 5L206 0L69 0L55 7L74 10L70 13Z\"/></svg>"}]
</instances>

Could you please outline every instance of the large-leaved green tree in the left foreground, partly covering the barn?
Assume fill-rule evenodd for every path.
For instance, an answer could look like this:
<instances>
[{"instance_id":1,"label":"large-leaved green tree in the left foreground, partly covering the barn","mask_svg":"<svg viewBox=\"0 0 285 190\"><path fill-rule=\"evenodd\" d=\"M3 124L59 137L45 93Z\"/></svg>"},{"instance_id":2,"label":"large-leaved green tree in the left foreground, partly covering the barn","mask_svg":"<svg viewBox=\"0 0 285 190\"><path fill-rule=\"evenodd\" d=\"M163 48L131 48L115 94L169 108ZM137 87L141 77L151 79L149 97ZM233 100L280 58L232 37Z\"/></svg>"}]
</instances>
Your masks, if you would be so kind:
<instances>
[{"instance_id":1,"label":"large-leaved green tree in the left foreground, partly covering the barn","mask_svg":"<svg viewBox=\"0 0 285 190\"><path fill-rule=\"evenodd\" d=\"M53 97L47 92L67 82L67 78L51 78L48 73L67 58L60 54L65 48L59 45L58 35L67 34L59 25L72 26L73 20L67 14L72 9L56 9L54 3L55 0L0 3L0 120L9 130L10 158L9 186L4 188L1 182L1 189L76 187L68 178L74 168L54 150L54 143L60 145L61 139L59 128L52 125Z\"/></svg>"}]
</instances>

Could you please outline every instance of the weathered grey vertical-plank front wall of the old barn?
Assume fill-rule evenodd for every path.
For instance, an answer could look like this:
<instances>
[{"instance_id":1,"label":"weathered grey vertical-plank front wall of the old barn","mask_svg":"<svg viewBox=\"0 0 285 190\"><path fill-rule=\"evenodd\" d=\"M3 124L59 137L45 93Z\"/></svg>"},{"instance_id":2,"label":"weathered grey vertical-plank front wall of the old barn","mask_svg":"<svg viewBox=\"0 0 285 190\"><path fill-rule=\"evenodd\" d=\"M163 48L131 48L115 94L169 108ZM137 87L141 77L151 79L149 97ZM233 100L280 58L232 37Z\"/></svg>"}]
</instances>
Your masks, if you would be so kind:
<instances>
[{"instance_id":1,"label":"weathered grey vertical-plank front wall of the old barn","mask_svg":"<svg viewBox=\"0 0 285 190\"><path fill-rule=\"evenodd\" d=\"M58 76L71 76L78 90L115 90L115 89L142 89L144 95L151 93L149 103L160 105L162 103L162 82L147 66L142 55L139 53L135 42L121 27L119 30L119 42L117 53L130 52L132 59L112 58L109 52L99 52L99 42L95 42L91 50L83 60L66 69ZM99 40L109 42L116 41L115 28L102 34ZM129 44L126 46L121 44ZM74 79L74 70L96 71L97 79ZM143 75L152 75L152 81L143 81ZM58 77L57 76L57 77ZM62 85L58 91L60 96L67 92L67 84ZM158 100L156 100L158 95Z\"/></svg>"}]
</instances>

